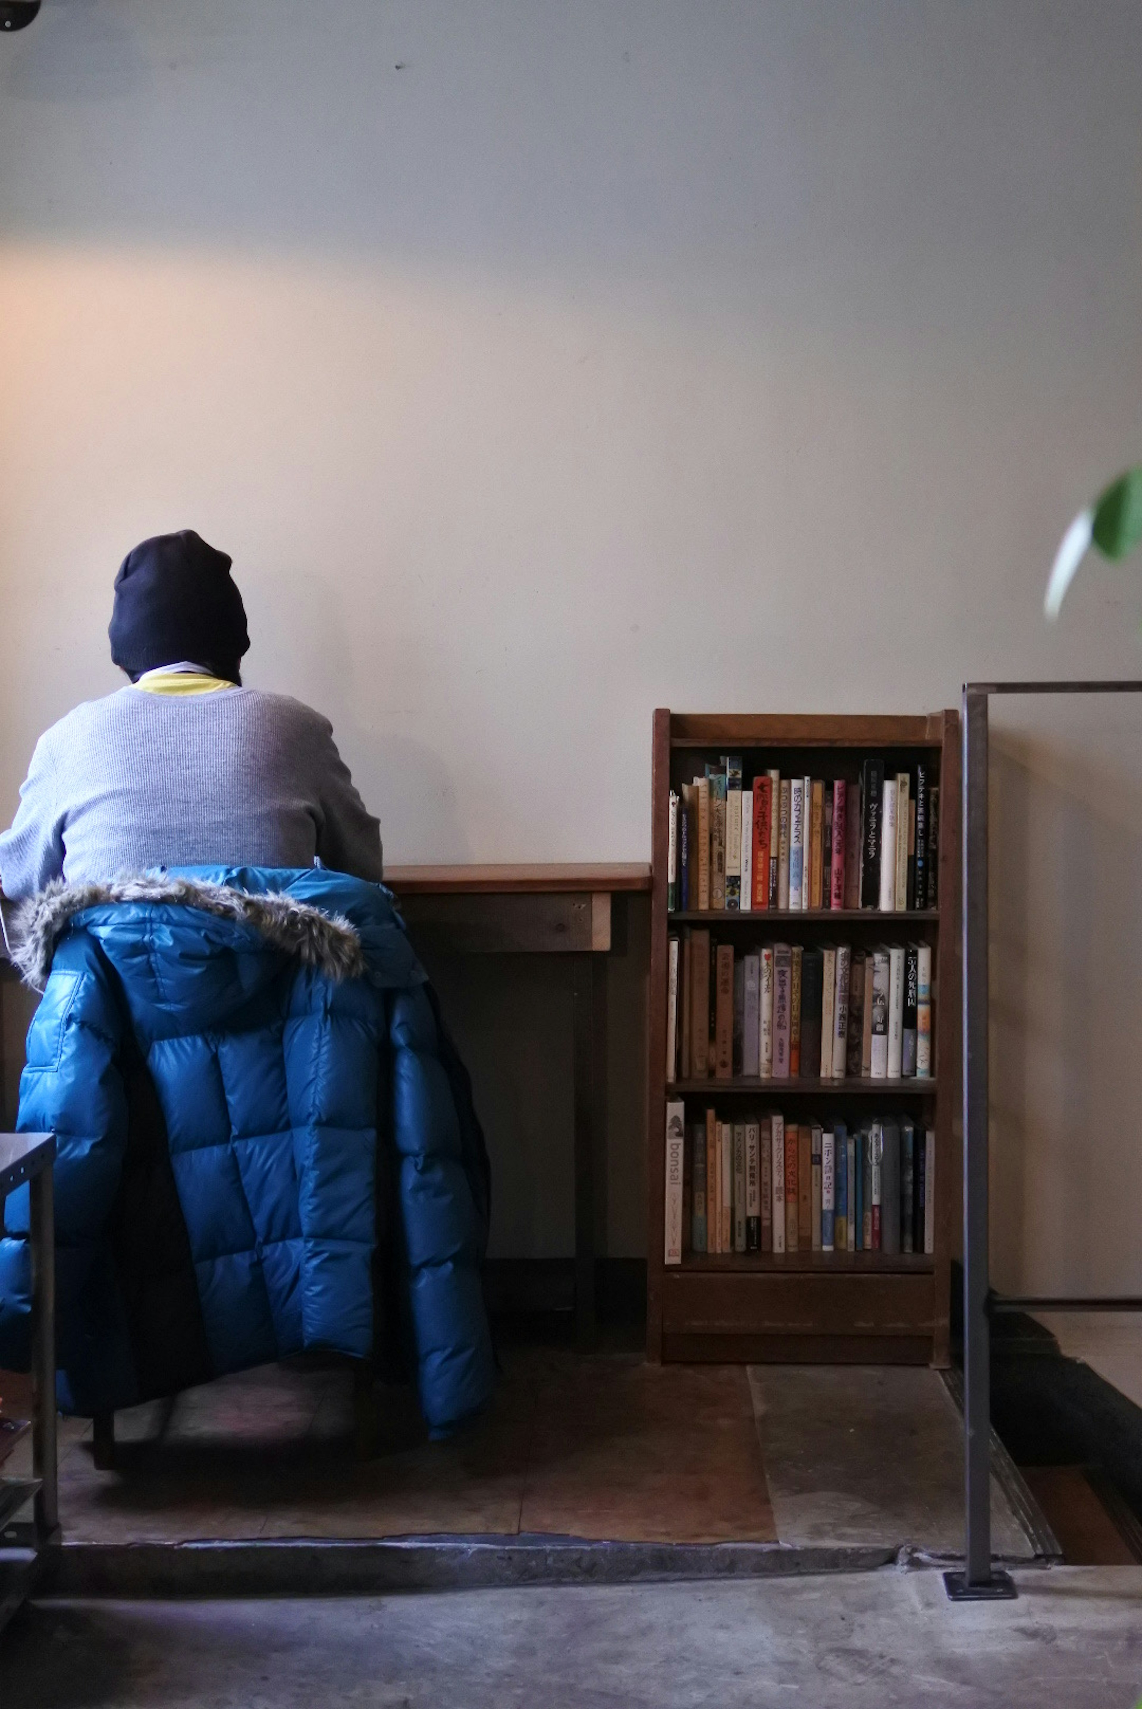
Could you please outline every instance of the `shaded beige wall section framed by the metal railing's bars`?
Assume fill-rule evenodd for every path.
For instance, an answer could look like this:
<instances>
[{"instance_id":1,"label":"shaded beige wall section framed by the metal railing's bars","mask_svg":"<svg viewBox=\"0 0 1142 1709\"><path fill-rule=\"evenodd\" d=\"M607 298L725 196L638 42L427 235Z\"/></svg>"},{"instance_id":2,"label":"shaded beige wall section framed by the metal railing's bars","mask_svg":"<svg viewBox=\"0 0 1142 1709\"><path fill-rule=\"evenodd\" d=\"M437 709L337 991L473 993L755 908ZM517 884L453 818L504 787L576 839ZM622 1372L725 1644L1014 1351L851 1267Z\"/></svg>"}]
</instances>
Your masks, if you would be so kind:
<instances>
[{"instance_id":1,"label":"shaded beige wall section framed by the metal railing's bars","mask_svg":"<svg viewBox=\"0 0 1142 1709\"><path fill-rule=\"evenodd\" d=\"M1142 784L993 731L992 1268L1002 1290L1142 1282Z\"/></svg>"}]
</instances>

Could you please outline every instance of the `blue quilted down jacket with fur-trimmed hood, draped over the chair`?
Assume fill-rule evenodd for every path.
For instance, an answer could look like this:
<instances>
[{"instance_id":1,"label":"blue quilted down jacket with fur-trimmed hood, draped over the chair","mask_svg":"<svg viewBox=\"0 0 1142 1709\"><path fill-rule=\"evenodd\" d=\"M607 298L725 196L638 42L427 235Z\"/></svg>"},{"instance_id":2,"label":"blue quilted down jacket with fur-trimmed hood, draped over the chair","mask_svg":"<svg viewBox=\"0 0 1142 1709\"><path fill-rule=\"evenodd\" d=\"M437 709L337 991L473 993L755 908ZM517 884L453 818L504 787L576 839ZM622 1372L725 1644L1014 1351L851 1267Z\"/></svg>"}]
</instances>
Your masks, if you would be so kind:
<instances>
[{"instance_id":1,"label":"blue quilted down jacket with fur-trimmed hood, draped over the chair","mask_svg":"<svg viewBox=\"0 0 1142 1709\"><path fill-rule=\"evenodd\" d=\"M128 1407L332 1348L407 1354L439 1432L487 1401L489 1174L390 894L320 868L58 887L22 1131L55 1131L58 1398ZM29 1362L27 1188L0 1367Z\"/></svg>"}]
</instances>

